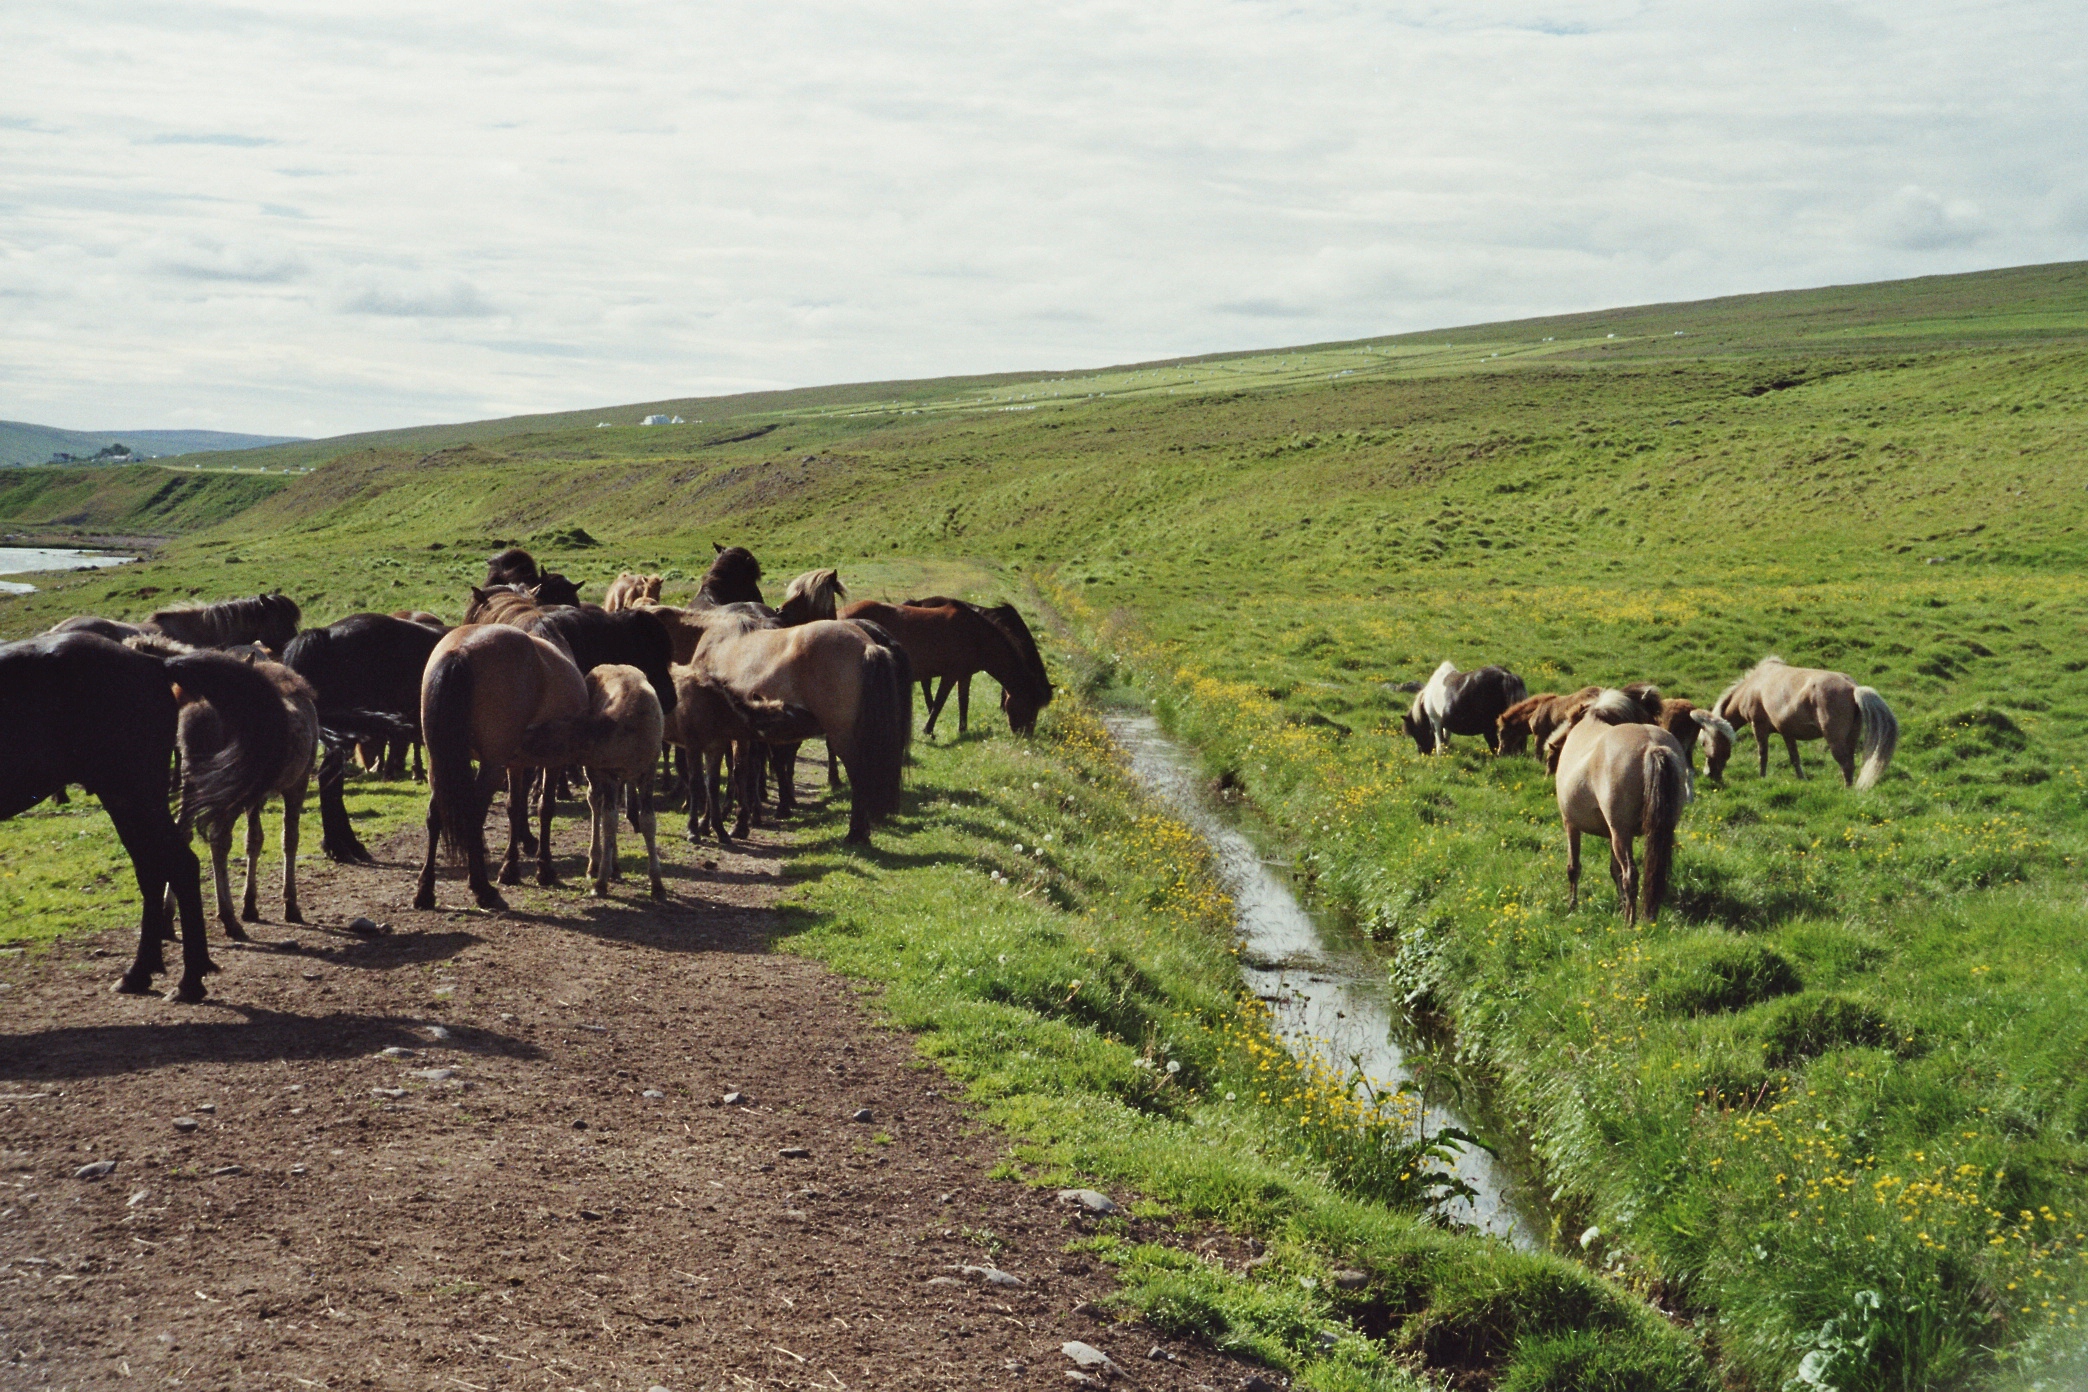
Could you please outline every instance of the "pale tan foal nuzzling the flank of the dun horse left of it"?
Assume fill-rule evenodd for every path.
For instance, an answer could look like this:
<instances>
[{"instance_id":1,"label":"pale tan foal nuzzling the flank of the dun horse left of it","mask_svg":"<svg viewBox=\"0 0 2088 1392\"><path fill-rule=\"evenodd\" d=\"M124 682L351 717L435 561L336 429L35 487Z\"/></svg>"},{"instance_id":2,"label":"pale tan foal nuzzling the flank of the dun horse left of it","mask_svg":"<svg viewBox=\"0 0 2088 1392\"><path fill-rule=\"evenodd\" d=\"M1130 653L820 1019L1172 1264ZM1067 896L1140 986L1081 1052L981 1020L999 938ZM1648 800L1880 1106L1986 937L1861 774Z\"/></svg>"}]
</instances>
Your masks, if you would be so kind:
<instances>
[{"instance_id":1,"label":"pale tan foal nuzzling the flank of the dun horse left of it","mask_svg":"<svg viewBox=\"0 0 2088 1392\"><path fill-rule=\"evenodd\" d=\"M616 793L622 785L637 791L639 833L645 837L645 860L651 868L651 897L666 897L660 879L660 845L654 837L654 764L660 762L660 739L666 718L660 697L645 672L606 662L587 672L587 712L570 720L547 720L522 733L522 758L539 766L578 764L587 770L587 810L593 839L587 847L587 874L593 895L610 893L610 881L622 879L616 866ZM543 791L543 862L551 858L551 787Z\"/></svg>"}]
</instances>

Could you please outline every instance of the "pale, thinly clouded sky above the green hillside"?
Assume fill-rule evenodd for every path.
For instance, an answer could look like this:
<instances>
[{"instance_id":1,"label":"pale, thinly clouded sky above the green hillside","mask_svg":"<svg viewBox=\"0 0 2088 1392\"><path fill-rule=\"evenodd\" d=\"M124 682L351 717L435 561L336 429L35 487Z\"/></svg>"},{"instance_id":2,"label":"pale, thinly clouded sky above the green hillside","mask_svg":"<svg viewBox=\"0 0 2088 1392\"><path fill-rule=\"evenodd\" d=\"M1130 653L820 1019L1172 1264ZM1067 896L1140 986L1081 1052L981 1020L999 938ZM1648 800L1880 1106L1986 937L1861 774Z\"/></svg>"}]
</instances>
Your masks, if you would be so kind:
<instances>
[{"instance_id":1,"label":"pale, thinly clouded sky above the green hillside","mask_svg":"<svg viewBox=\"0 0 2088 1392\"><path fill-rule=\"evenodd\" d=\"M0 417L340 434L2088 259L2080 0L8 0Z\"/></svg>"}]
</instances>

